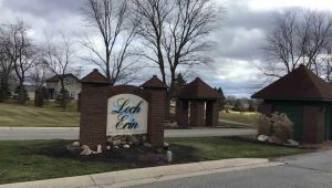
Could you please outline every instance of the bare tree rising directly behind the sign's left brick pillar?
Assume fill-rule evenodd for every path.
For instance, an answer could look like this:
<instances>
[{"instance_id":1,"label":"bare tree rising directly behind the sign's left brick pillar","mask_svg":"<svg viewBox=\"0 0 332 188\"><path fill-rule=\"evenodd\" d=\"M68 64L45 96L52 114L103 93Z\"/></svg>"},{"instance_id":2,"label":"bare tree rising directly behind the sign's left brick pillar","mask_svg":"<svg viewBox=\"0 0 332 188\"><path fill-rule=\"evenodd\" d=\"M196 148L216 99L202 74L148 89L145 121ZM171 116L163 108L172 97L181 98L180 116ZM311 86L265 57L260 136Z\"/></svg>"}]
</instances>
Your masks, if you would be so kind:
<instances>
[{"instance_id":1,"label":"bare tree rising directly behind the sign's left brick pillar","mask_svg":"<svg viewBox=\"0 0 332 188\"><path fill-rule=\"evenodd\" d=\"M84 58L103 70L111 84L131 75L129 62L134 52L131 49L136 35L136 24L129 23L127 0L86 0L83 13L90 27L98 31L103 41L103 51L89 36L82 40L92 55Z\"/></svg>"}]
</instances>

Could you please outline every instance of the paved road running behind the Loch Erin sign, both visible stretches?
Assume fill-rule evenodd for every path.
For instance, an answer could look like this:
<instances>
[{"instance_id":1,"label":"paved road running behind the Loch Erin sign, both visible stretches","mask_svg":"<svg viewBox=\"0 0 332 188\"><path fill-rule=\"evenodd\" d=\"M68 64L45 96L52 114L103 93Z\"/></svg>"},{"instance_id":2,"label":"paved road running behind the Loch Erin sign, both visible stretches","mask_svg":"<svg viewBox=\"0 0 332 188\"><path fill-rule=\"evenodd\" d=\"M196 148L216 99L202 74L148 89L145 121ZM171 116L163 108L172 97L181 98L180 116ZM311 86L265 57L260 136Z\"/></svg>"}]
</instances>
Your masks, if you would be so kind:
<instances>
[{"instance_id":1,"label":"paved road running behind the Loch Erin sign, both visible stretches","mask_svg":"<svg viewBox=\"0 0 332 188\"><path fill-rule=\"evenodd\" d=\"M0 140L77 139L77 127L0 127ZM165 137L240 136L255 134L245 128L167 129Z\"/></svg>"}]
</instances>

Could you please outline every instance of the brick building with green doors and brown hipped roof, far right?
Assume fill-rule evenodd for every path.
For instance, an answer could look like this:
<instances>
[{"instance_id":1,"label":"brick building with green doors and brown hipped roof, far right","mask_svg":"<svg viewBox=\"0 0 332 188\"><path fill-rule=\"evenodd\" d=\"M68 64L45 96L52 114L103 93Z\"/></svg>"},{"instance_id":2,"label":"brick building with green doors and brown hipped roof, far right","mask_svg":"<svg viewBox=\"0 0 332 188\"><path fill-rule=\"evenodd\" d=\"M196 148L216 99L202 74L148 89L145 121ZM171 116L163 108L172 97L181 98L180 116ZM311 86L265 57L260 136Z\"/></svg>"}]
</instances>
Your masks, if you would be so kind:
<instances>
[{"instance_id":1,"label":"brick building with green doors and brown hipped roof, far right","mask_svg":"<svg viewBox=\"0 0 332 188\"><path fill-rule=\"evenodd\" d=\"M302 143L332 139L332 87L304 65L262 88L252 98L263 100L259 112L284 113Z\"/></svg>"}]
</instances>

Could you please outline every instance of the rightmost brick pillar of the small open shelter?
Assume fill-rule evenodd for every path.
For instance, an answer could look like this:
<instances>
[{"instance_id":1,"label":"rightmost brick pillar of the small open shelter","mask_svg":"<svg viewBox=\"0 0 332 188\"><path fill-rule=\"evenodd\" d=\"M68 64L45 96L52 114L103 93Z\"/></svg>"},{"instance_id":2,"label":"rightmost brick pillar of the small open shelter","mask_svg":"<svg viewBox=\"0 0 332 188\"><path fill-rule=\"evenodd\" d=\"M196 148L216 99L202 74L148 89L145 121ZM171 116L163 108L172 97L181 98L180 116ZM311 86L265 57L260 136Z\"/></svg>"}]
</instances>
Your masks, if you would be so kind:
<instances>
[{"instance_id":1,"label":"rightmost brick pillar of the small open shelter","mask_svg":"<svg viewBox=\"0 0 332 188\"><path fill-rule=\"evenodd\" d=\"M206 126L218 126L219 103L211 101L206 103Z\"/></svg>"}]
</instances>

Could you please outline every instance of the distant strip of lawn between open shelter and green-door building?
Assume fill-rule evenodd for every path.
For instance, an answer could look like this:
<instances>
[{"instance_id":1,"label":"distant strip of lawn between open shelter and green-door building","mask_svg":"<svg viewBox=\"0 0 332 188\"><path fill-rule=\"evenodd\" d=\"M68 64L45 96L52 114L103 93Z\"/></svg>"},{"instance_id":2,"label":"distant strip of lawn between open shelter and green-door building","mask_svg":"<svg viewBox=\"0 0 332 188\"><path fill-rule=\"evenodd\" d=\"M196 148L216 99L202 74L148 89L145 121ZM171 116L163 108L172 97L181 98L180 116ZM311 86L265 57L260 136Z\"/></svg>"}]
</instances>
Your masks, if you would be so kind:
<instances>
[{"instance_id":1,"label":"distant strip of lawn between open shelter and green-door building","mask_svg":"<svg viewBox=\"0 0 332 188\"><path fill-rule=\"evenodd\" d=\"M257 113L257 112L239 113L239 112L232 112L232 111L230 111L229 113L226 113L225 111L222 111L222 112L219 112L219 118L227 119L227 121L234 121L234 122L240 122L240 123L245 123L245 124L257 125L258 118L259 118L259 113Z\"/></svg>"}]
</instances>

